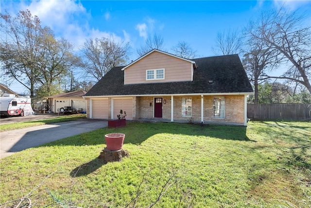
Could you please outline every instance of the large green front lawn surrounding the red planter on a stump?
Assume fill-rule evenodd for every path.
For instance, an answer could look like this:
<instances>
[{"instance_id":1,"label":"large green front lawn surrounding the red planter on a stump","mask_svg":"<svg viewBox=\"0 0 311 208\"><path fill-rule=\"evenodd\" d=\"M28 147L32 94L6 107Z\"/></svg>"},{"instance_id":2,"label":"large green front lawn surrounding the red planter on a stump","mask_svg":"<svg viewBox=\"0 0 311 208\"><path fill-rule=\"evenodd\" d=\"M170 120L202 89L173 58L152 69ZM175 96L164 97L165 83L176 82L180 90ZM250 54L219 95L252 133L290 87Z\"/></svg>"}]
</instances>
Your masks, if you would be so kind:
<instances>
[{"instance_id":1,"label":"large green front lawn surrounding the red planter on a stump","mask_svg":"<svg viewBox=\"0 0 311 208\"><path fill-rule=\"evenodd\" d=\"M104 164L109 132L125 133L130 156ZM37 207L309 208L311 123L127 122L15 153L0 171L0 204L28 194Z\"/></svg>"}]
</instances>

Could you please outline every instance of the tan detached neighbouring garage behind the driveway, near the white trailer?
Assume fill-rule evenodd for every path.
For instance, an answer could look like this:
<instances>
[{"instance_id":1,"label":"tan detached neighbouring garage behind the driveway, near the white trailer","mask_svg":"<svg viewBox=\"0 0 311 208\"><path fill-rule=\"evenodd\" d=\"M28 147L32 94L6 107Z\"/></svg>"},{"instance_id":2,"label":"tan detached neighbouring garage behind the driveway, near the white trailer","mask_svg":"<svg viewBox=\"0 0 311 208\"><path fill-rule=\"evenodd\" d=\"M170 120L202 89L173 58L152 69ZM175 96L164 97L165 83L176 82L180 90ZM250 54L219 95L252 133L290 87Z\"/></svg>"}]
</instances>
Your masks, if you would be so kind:
<instances>
[{"instance_id":1,"label":"tan detached neighbouring garage behind the driveway, near the white trailer","mask_svg":"<svg viewBox=\"0 0 311 208\"><path fill-rule=\"evenodd\" d=\"M86 91L79 90L69 93L63 93L59 95L47 96L49 109L51 113L60 112L59 109L64 108L65 106L70 106L74 109L82 108L83 111L86 111L86 100L83 96L86 94Z\"/></svg>"}]
</instances>

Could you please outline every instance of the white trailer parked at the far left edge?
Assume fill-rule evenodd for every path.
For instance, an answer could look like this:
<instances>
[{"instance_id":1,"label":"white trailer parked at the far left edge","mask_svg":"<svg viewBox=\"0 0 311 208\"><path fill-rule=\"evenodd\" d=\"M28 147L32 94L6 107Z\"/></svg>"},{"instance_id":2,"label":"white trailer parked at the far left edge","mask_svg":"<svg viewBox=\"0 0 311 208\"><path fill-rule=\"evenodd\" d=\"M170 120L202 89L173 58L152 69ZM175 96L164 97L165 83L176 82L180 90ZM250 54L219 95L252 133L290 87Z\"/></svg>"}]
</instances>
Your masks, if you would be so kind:
<instances>
[{"instance_id":1,"label":"white trailer parked at the far left edge","mask_svg":"<svg viewBox=\"0 0 311 208\"><path fill-rule=\"evenodd\" d=\"M0 97L0 115L32 115L34 111L31 107L30 97L15 97L13 95L4 95Z\"/></svg>"}]
</instances>

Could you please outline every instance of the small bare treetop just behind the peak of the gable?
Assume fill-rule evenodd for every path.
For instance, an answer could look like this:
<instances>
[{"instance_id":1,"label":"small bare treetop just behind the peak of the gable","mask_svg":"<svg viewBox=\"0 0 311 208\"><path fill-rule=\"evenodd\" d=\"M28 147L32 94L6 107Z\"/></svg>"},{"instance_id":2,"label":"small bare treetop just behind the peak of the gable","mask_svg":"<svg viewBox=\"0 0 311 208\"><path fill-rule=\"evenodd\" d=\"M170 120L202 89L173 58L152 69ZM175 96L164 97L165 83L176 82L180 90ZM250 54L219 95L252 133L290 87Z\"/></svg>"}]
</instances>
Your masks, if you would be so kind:
<instances>
[{"instance_id":1,"label":"small bare treetop just behind the peak of the gable","mask_svg":"<svg viewBox=\"0 0 311 208\"><path fill-rule=\"evenodd\" d=\"M153 37L149 35L145 40L145 45L138 48L137 53L140 57L142 57L153 49L163 50L163 38L161 35L154 34Z\"/></svg>"}]
</instances>

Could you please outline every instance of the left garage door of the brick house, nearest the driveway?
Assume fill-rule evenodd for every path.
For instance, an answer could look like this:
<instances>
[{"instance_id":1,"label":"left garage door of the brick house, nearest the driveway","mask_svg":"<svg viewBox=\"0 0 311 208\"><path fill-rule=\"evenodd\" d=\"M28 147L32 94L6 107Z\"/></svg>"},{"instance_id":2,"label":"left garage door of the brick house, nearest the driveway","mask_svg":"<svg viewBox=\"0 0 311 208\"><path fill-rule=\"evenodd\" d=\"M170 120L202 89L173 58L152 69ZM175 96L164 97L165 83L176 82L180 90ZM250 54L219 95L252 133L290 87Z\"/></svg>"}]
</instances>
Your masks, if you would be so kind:
<instances>
[{"instance_id":1,"label":"left garage door of the brick house, nearest the driveway","mask_svg":"<svg viewBox=\"0 0 311 208\"><path fill-rule=\"evenodd\" d=\"M108 99L92 99L92 118L108 119Z\"/></svg>"}]
</instances>

